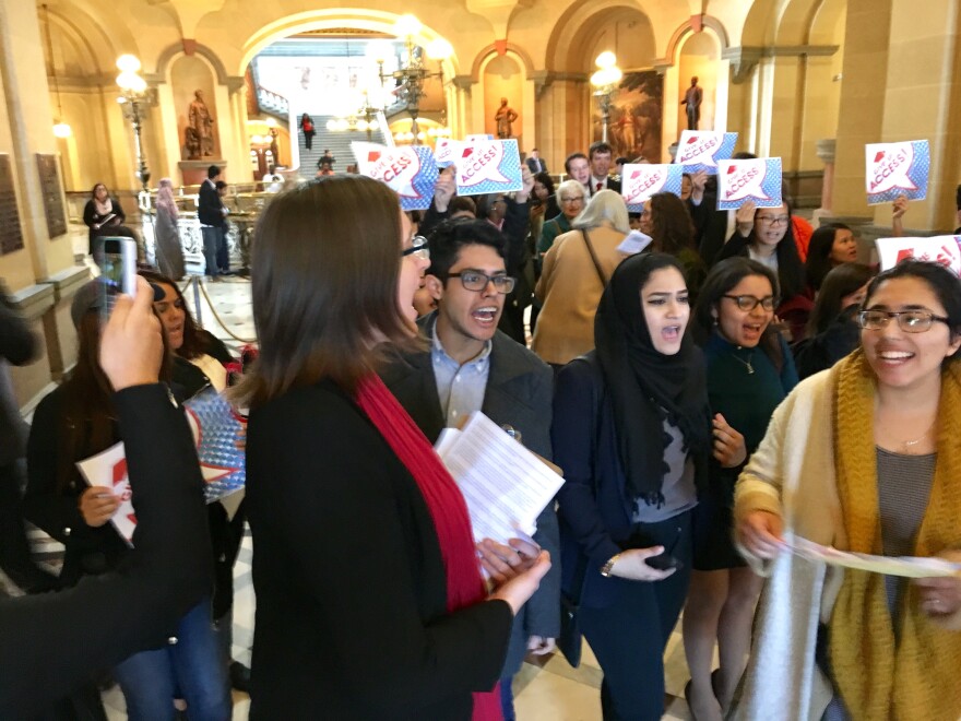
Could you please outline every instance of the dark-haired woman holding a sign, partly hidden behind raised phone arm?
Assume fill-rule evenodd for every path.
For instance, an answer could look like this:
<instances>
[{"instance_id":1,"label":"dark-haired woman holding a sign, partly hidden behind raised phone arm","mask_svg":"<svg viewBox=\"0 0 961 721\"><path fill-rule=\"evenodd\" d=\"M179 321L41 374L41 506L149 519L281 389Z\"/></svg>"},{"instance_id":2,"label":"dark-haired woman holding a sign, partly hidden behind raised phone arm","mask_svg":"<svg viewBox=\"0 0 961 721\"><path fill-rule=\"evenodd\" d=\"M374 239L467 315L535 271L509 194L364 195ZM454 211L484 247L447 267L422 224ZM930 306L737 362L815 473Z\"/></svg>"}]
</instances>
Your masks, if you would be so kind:
<instances>
[{"instance_id":1,"label":"dark-haired woman holding a sign, partly hidden behind raised phone arm","mask_svg":"<svg viewBox=\"0 0 961 721\"><path fill-rule=\"evenodd\" d=\"M87 486L75 465L120 440L112 388L97 356L103 303L99 281L90 282L74 296L71 316L79 335L76 366L37 406L27 449L25 516L66 546L60 575L64 587L75 584L82 576L115 569L129 553L109 522L120 498L111 488ZM164 350L162 377L169 380L166 339ZM135 653L112 669L128 717L173 719L176 694L187 701L191 719L229 718L226 669L212 627L209 595L170 629L170 636L175 643ZM102 670L91 670L97 671Z\"/></svg>"}]
</instances>

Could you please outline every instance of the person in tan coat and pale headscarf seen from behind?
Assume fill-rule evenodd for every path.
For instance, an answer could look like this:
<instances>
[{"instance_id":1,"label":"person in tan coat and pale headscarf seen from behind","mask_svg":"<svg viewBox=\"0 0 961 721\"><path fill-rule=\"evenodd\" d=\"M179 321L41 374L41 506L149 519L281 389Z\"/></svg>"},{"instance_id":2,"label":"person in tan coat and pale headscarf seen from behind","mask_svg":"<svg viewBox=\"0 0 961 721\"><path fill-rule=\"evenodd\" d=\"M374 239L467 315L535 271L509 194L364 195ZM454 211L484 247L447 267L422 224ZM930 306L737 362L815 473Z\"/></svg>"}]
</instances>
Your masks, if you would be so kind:
<instances>
[{"instance_id":1,"label":"person in tan coat and pale headscarf seen from behind","mask_svg":"<svg viewBox=\"0 0 961 721\"><path fill-rule=\"evenodd\" d=\"M532 350L562 366L594 347L594 314L607 280L625 259L617 247L630 232L627 205L613 190L597 192L570 233L544 257L534 295L542 302ZM593 251L593 252L592 252Z\"/></svg>"}]
</instances>

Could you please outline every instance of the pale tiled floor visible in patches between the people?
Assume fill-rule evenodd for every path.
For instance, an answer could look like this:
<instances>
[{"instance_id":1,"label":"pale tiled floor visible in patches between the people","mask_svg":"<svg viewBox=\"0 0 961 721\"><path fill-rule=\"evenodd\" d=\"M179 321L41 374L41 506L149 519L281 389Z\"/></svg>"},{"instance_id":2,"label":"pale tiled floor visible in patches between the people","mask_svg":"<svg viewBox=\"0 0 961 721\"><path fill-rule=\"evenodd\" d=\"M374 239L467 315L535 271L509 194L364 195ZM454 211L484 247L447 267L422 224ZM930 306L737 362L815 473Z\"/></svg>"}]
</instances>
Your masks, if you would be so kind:
<instances>
[{"instance_id":1,"label":"pale tiled floor visible in patches between the people","mask_svg":"<svg viewBox=\"0 0 961 721\"><path fill-rule=\"evenodd\" d=\"M78 236L74 245L86 247L86 236ZM193 269L198 270L198 269ZM200 282L201 285L197 285ZM222 339L228 346L237 348L253 339L253 321L250 312L250 283L241 277L228 277L222 283L209 283L199 276L185 286L185 296L195 318L204 328ZM209 300L207 300L209 299ZM199 310L198 310L199 304ZM216 308L216 315L212 311ZM45 554L56 552L55 544L37 539ZM253 610L256 605L253 586L250 577L251 539L245 539L240 556L235 567L234 607L234 659L241 662L250 660L250 643L253 639ZM684 701L684 685L688 679L687 664L680 633L676 630L667 645L664 657L666 687L671 695L665 719L689 719L687 704ZM517 712L521 721L591 721L601 718L600 685L602 673L591 653L584 648L579 669L571 669L559 653L543 666L525 663L515 684ZM108 718L111 721L126 719L123 696L118 688L104 695ZM247 719L249 698L246 694L234 694L234 719Z\"/></svg>"}]
</instances>

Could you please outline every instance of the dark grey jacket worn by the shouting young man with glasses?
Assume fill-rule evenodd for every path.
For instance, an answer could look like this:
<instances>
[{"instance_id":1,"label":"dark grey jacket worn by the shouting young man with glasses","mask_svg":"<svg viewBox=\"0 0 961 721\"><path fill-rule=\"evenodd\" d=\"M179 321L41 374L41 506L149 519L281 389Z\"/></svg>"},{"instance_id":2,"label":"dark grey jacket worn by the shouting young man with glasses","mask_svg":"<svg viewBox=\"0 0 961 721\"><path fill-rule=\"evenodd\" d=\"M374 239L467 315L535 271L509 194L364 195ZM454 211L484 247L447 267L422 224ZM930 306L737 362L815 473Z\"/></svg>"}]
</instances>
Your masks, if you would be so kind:
<instances>
[{"instance_id":1,"label":"dark grey jacket worn by the shouting young man with glasses","mask_svg":"<svg viewBox=\"0 0 961 721\"><path fill-rule=\"evenodd\" d=\"M434 327L434 314L418 321L423 331ZM406 354L381 370L383 382L434 442L446 425L437 395L430 351ZM530 450L551 458L550 418L554 375L543 361L523 345L497 331L490 352L490 370L482 411L500 425L521 433ZM503 676L517 673L532 635L557 638L560 634L560 540L554 504L537 518L534 540L550 553L551 568L537 593L514 619Z\"/></svg>"}]
</instances>

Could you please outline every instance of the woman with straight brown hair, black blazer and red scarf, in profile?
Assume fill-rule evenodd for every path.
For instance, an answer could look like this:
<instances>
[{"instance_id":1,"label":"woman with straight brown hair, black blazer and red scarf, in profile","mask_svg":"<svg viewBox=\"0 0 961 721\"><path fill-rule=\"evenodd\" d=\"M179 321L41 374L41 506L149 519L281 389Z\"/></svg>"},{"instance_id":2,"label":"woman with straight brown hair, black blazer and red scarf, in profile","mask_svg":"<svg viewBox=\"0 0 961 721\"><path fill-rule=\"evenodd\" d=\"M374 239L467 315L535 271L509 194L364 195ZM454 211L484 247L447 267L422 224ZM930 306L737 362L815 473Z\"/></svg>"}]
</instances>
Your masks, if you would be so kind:
<instances>
[{"instance_id":1,"label":"woman with straight brown hair, black blazer and red scarf, in profile","mask_svg":"<svg viewBox=\"0 0 961 721\"><path fill-rule=\"evenodd\" d=\"M252 265L250 718L499 719L513 614L550 563L517 540L475 547L460 490L375 373L418 342L427 249L387 186L336 176L268 205Z\"/></svg>"}]
</instances>

